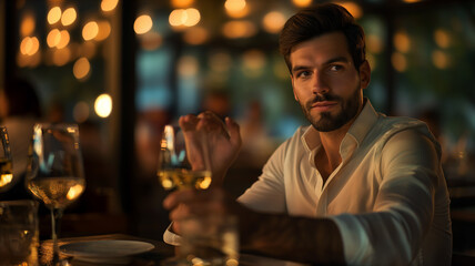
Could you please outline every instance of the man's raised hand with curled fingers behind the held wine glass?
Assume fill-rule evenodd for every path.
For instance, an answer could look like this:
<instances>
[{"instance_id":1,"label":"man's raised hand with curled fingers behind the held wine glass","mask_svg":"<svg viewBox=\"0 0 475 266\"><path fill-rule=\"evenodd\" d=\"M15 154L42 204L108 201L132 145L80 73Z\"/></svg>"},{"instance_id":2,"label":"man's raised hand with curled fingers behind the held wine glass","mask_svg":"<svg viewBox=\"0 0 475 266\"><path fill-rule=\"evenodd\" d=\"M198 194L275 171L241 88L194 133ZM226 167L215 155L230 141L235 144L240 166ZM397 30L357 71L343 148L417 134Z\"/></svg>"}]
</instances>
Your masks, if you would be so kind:
<instances>
[{"instance_id":1,"label":"man's raised hand with curled fingers behind the held wine glass","mask_svg":"<svg viewBox=\"0 0 475 266\"><path fill-rule=\"evenodd\" d=\"M200 165L202 158L198 158L193 151L201 151L203 139L208 144L210 167L213 174L213 186L223 182L224 175L231 164L238 157L242 145L240 126L232 119L226 117L223 123L214 113L203 112L201 114L188 114L179 120L183 130L186 151L190 160ZM193 165L193 162L191 162Z\"/></svg>"}]
</instances>

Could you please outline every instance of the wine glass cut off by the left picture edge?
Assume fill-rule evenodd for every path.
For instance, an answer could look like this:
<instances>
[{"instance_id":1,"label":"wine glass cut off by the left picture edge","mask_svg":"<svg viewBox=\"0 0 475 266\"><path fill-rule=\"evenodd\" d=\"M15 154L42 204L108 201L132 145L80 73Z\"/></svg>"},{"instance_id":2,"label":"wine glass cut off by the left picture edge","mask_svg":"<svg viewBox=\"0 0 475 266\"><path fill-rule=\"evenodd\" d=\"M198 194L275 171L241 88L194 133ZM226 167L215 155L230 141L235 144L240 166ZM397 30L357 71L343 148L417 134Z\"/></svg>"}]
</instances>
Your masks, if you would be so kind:
<instances>
[{"instance_id":1,"label":"wine glass cut off by the left picture edge","mask_svg":"<svg viewBox=\"0 0 475 266\"><path fill-rule=\"evenodd\" d=\"M0 192L2 192L10 188L13 181L10 140L4 126L0 126Z\"/></svg>"}]
</instances>

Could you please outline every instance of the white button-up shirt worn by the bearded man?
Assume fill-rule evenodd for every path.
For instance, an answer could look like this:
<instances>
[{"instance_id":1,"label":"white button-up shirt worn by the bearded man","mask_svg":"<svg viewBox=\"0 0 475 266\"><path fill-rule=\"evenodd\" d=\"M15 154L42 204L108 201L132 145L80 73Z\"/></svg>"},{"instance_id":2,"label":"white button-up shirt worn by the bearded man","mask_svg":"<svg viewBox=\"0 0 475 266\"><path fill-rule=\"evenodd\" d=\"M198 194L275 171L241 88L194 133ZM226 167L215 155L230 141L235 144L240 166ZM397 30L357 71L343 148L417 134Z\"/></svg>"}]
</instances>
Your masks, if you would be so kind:
<instances>
[{"instance_id":1,"label":"white button-up shirt worn by the bearded man","mask_svg":"<svg viewBox=\"0 0 475 266\"><path fill-rule=\"evenodd\" d=\"M261 212L333 219L348 265L451 264L441 150L423 122L387 117L366 101L325 184L314 165L319 149L319 132L300 127L239 202Z\"/></svg>"}]
</instances>

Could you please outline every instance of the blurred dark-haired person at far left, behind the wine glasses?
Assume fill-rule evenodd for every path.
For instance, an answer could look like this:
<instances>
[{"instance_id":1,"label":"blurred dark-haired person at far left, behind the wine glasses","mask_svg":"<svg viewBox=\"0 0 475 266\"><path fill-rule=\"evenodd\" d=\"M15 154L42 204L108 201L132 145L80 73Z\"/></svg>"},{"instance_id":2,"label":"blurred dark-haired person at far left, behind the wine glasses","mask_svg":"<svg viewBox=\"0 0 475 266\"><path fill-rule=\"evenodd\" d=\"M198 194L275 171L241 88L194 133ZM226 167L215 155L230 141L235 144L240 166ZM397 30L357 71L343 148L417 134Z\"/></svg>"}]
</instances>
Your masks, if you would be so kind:
<instances>
[{"instance_id":1,"label":"blurred dark-haired person at far left, behind the wine glasses","mask_svg":"<svg viewBox=\"0 0 475 266\"><path fill-rule=\"evenodd\" d=\"M34 86L27 80L14 79L0 91L0 121L7 126L13 165L13 180L0 191L1 198L29 197L23 184L33 125L42 116ZM8 192L6 192L8 191Z\"/></svg>"}]
</instances>

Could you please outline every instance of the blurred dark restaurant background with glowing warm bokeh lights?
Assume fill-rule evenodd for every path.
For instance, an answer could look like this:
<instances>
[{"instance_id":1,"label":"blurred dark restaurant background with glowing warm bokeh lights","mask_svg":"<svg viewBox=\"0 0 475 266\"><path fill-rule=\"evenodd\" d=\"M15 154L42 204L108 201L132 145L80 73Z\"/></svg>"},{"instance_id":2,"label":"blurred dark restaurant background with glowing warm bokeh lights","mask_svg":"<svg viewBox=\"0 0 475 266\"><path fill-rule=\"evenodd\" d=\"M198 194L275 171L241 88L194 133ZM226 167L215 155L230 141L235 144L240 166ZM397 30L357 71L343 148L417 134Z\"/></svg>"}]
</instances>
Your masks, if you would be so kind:
<instances>
[{"instance_id":1,"label":"blurred dark restaurant background with glowing warm bokeh lights","mask_svg":"<svg viewBox=\"0 0 475 266\"><path fill-rule=\"evenodd\" d=\"M38 120L80 125L88 185L62 235L160 239L169 219L158 132L183 114L212 110L240 122L244 146L225 185L238 196L252 184L306 124L277 38L316 2L326 1L0 0L1 90L26 80ZM426 121L441 141L454 247L475 248L475 1L336 2L365 29L365 95L383 113ZM14 105L31 106L22 95Z\"/></svg>"}]
</instances>

